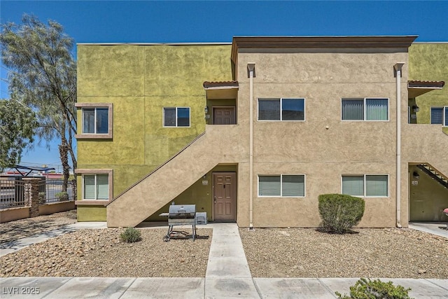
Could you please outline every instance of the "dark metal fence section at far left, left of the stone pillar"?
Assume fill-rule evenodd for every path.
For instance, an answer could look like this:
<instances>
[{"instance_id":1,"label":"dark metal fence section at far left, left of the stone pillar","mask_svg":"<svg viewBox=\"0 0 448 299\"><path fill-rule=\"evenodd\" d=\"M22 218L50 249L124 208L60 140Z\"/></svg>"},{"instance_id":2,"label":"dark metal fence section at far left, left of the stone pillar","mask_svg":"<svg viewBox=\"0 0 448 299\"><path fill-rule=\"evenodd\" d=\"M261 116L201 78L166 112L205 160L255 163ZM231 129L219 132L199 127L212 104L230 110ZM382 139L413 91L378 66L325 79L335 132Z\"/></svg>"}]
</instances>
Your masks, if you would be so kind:
<instances>
[{"instance_id":1,"label":"dark metal fence section at far left, left of the stone pillar","mask_svg":"<svg viewBox=\"0 0 448 299\"><path fill-rule=\"evenodd\" d=\"M0 180L0 209L25 206L25 181Z\"/></svg>"}]
</instances>

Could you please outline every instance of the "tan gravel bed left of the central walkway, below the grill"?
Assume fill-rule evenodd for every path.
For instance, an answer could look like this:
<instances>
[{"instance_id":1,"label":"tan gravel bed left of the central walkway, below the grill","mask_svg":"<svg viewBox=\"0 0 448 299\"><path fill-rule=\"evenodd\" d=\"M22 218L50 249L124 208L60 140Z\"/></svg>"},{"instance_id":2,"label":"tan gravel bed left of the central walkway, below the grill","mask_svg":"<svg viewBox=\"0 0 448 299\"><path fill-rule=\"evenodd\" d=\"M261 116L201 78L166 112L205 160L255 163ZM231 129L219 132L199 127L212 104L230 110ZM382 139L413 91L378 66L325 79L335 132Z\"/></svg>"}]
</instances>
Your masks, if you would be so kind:
<instances>
[{"instance_id":1,"label":"tan gravel bed left of the central walkway, below the grill","mask_svg":"<svg viewBox=\"0 0 448 299\"><path fill-rule=\"evenodd\" d=\"M195 242L163 242L167 230L142 229L132 244L120 241L123 230L78 230L9 253L0 277L205 277L210 229L198 229Z\"/></svg>"}]
</instances>

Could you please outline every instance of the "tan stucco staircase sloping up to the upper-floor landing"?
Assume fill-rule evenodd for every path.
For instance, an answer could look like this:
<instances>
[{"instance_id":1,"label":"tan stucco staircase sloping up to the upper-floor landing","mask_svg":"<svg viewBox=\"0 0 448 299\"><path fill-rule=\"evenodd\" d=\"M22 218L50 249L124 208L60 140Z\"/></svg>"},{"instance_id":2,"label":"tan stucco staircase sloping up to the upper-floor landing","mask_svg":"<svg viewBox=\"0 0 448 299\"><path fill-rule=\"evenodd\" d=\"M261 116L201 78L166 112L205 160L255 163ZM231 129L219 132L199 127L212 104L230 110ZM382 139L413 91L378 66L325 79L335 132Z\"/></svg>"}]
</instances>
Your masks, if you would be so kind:
<instances>
[{"instance_id":1,"label":"tan stucco staircase sloping up to the upper-floor landing","mask_svg":"<svg viewBox=\"0 0 448 299\"><path fill-rule=\"evenodd\" d=\"M239 125L206 125L204 133L106 206L107 225L134 227L219 163L248 160L239 130Z\"/></svg>"}]
</instances>

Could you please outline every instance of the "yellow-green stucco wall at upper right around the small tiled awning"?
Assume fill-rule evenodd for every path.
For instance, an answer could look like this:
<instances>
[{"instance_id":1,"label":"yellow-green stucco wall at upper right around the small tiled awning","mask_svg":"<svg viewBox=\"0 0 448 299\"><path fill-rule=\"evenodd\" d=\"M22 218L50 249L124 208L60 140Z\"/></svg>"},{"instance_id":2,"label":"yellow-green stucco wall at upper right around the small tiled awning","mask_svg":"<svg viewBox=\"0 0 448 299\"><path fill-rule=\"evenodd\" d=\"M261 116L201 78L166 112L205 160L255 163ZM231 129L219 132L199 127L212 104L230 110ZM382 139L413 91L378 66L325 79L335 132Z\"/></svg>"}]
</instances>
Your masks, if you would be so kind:
<instances>
[{"instance_id":1,"label":"yellow-green stucco wall at upper right around the small tiled awning","mask_svg":"<svg viewBox=\"0 0 448 299\"><path fill-rule=\"evenodd\" d=\"M448 84L448 43L413 43L409 48L409 80ZM448 87L416 97L416 123L430 123L431 106L448 106Z\"/></svg>"}]
</instances>

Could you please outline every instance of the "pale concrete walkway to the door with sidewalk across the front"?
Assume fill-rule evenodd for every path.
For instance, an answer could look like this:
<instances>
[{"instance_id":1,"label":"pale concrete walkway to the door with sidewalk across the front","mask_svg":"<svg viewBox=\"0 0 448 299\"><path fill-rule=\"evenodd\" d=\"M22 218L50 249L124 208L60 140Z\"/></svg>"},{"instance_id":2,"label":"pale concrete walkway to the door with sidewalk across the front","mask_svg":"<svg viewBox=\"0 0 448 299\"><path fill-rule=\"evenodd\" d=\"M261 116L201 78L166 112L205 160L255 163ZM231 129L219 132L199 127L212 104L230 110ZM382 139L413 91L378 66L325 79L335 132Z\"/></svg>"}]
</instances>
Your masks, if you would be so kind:
<instances>
[{"instance_id":1,"label":"pale concrete walkway to the door with sidewalk across the front","mask_svg":"<svg viewBox=\"0 0 448 299\"><path fill-rule=\"evenodd\" d=\"M76 223L53 237L76 230ZM102 223L94 223L97 228ZM336 298L356 278L253 278L235 223L213 223L205 277L10 277L0 279L1 298ZM34 237L35 238L35 237ZM43 238L43 237L42 237ZM37 239L43 240L41 237ZM31 238L25 238L31 239ZM22 240L21 240L22 241ZM27 242L30 242L28 240ZM26 246L27 242L22 242ZM40 241L42 242L42 241ZM15 248L19 248L16 246ZM413 298L448 298L448 279L387 279L412 288Z\"/></svg>"}]
</instances>

